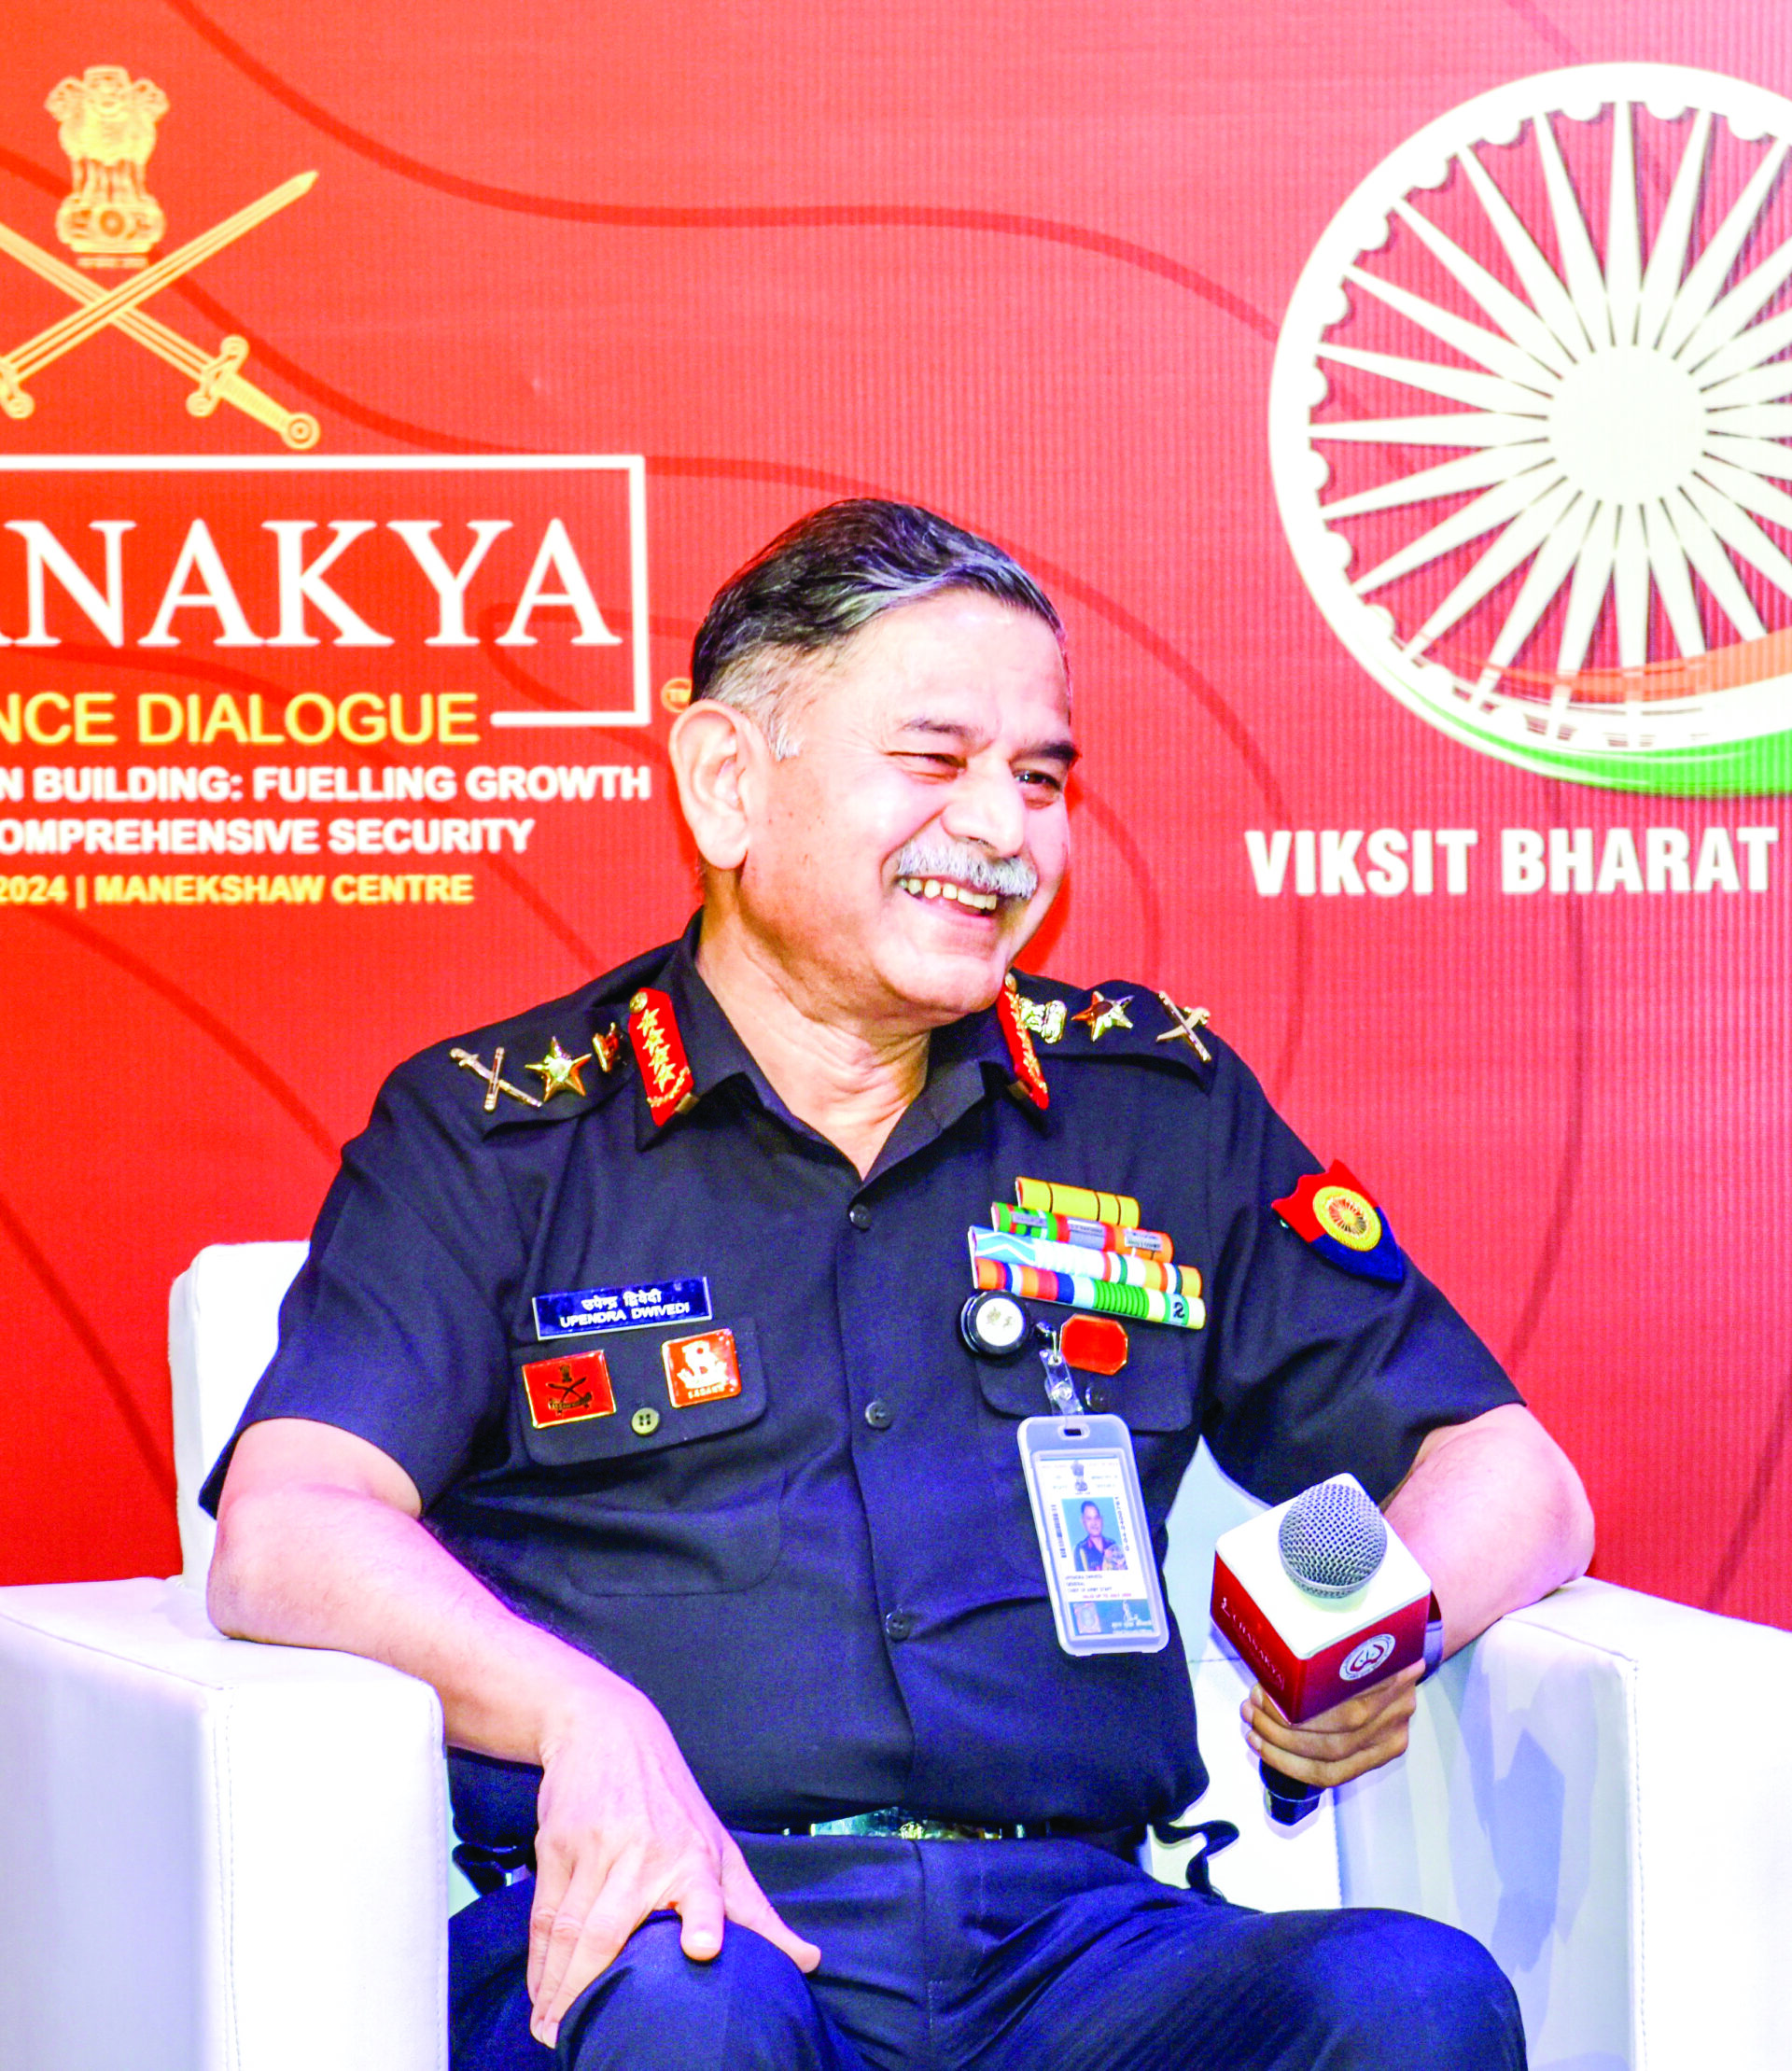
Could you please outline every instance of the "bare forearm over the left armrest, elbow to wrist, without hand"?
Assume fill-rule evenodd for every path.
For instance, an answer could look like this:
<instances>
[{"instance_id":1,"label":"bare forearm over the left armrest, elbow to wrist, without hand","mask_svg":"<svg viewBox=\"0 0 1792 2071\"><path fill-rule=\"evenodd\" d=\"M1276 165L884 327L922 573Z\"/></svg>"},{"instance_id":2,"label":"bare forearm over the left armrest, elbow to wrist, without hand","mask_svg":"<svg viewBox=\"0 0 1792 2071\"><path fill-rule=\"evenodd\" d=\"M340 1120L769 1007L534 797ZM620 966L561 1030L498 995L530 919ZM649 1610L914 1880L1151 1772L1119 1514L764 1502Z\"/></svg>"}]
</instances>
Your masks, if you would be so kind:
<instances>
[{"instance_id":1,"label":"bare forearm over the left armrest, elbow to wrist, without hand","mask_svg":"<svg viewBox=\"0 0 1792 2071\"><path fill-rule=\"evenodd\" d=\"M402 1510L350 1489L261 1489L220 1516L207 1607L220 1632L334 1646L435 1686L447 1740L541 1762L574 1717L646 1700L510 1611Z\"/></svg>"}]
</instances>

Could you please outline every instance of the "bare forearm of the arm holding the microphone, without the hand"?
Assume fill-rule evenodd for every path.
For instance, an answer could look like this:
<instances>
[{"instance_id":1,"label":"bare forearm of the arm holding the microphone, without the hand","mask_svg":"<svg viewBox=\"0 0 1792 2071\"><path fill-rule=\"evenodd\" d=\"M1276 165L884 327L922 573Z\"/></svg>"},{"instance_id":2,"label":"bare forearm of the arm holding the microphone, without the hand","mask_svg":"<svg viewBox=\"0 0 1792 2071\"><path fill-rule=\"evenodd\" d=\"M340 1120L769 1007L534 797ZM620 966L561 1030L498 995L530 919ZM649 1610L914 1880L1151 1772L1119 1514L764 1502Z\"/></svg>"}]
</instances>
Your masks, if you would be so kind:
<instances>
[{"instance_id":1,"label":"bare forearm of the arm holding the microphone, without the hand","mask_svg":"<svg viewBox=\"0 0 1792 2071\"><path fill-rule=\"evenodd\" d=\"M1432 1576L1446 1653L1570 1582L1593 1557L1581 1477L1516 1404L1432 1431L1386 1514Z\"/></svg>"}]
</instances>

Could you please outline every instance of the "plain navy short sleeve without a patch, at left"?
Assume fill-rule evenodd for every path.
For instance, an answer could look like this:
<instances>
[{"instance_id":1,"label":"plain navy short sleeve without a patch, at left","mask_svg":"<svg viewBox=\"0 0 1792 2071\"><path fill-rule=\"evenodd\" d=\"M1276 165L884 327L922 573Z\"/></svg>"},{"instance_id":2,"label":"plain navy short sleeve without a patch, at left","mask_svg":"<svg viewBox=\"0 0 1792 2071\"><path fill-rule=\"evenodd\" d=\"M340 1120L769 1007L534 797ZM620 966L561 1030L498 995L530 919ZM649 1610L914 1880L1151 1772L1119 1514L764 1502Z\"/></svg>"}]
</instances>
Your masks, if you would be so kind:
<instances>
[{"instance_id":1,"label":"plain navy short sleeve without a patch, at left","mask_svg":"<svg viewBox=\"0 0 1792 2071\"><path fill-rule=\"evenodd\" d=\"M201 1489L211 1512L253 1423L305 1417L352 1431L389 1454L429 1508L481 1425L503 1412L524 1243L491 1141L431 1064L400 1067L342 1154L280 1309L280 1348Z\"/></svg>"}]
</instances>

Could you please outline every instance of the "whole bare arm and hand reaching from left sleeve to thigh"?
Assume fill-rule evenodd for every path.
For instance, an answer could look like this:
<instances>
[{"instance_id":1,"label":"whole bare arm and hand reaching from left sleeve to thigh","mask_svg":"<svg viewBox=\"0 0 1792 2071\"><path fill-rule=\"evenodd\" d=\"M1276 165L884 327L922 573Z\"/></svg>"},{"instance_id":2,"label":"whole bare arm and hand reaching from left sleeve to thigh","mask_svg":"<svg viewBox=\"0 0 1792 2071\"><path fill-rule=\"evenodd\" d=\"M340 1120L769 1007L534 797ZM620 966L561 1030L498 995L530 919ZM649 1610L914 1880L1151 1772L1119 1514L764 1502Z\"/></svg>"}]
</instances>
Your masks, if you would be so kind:
<instances>
[{"instance_id":1,"label":"whole bare arm and hand reaching from left sleeve to thigh","mask_svg":"<svg viewBox=\"0 0 1792 2071\"><path fill-rule=\"evenodd\" d=\"M653 1702L499 1603L421 1510L412 1479L367 1439L305 1419L251 1425L218 1508L211 1617L238 1638L389 1661L435 1684L452 1746L541 1762L534 2034L553 2042L661 1907L698 1961L733 1920L814 1970L820 1951L771 1909Z\"/></svg>"}]
</instances>

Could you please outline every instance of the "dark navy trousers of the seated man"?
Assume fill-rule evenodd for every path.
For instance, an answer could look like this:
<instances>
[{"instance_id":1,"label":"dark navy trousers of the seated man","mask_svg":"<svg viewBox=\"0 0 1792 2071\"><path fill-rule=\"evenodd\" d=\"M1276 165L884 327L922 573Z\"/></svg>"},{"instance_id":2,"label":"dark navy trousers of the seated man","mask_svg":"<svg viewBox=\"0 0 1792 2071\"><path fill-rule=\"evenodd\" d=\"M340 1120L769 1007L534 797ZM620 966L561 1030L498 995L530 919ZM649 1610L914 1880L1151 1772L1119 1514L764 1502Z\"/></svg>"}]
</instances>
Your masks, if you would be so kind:
<instances>
[{"instance_id":1,"label":"dark navy trousers of the seated man","mask_svg":"<svg viewBox=\"0 0 1792 2071\"><path fill-rule=\"evenodd\" d=\"M1523 2071L1479 1943L1392 1912L1253 1914L1083 1841L740 1835L804 1978L729 1926L713 1963L651 1916L528 2034L532 1880L450 1924L454 2071Z\"/></svg>"}]
</instances>

